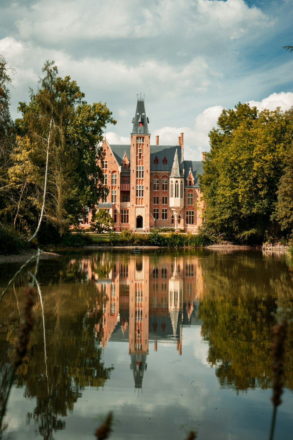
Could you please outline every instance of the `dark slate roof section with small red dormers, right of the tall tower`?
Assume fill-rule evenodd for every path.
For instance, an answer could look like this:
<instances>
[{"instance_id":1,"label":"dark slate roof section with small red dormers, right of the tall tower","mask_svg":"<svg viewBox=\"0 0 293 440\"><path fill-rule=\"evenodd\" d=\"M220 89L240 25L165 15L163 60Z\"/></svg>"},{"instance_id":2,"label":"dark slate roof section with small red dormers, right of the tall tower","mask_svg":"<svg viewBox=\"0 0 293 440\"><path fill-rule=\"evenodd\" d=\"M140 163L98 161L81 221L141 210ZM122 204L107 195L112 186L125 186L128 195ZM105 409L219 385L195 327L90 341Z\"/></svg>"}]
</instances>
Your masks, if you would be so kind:
<instances>
[{"instance_id":1,"label":"dark slate roof section with small red dormers, right of the tall tower","mask_svg":"<svg viewBox=\"0 0 293 440\"><path fill-rule=\"evenodd\" d=\"M176 150L178 154L178 161L181 163L181 148L178 147L178 145L151 145L151 171L171 171ZM155 164L156 157L158 158L157 164ZM164 158L166 158L166 161L164 161Z\"/></svg>"}]
</instances>

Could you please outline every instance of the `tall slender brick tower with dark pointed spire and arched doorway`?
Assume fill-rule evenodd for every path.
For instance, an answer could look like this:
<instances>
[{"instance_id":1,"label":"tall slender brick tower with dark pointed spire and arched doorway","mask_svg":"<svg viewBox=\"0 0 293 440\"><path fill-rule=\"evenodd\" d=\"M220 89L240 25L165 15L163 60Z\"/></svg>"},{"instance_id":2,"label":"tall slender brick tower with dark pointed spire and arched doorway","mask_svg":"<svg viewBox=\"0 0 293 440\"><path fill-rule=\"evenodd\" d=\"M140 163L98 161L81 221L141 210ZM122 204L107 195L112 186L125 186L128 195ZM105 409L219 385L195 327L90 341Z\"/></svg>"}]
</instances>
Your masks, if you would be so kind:
<instances>
[{"instance_id":1,"label":"tall slender brick tower with dark pointed spire and arched doorway","mask_svg":"<svg viewBox=\"0 0 293 440\"><path fill-rule=\"evenodd\" d=\"M149 231L150 133L144 97L137 96L130 134L130 229Z\"/></svg>"}]
</instances>

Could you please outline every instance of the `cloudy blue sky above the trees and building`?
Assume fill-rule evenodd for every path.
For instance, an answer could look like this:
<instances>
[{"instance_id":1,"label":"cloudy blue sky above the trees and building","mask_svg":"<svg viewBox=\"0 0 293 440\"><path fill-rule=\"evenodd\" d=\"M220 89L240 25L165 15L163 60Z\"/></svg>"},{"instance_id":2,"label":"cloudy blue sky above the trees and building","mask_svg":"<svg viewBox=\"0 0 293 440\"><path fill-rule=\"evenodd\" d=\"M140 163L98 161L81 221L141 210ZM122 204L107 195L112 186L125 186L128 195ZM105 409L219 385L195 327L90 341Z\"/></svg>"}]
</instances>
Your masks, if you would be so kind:
<instances>
[{"instance_id":1,"label":"cloudy blue sky above the trees and building","mask_svg":"<svg viewBox=\"0 0 293 440\"><path fill-rule=\"evenodd\" d=\"M15 74L11 116L54 60L88 103L117 120L108 142L130 143L137 94L151 143L201 160L223 108L293 106L293 0L0 0L0 54Z\"/></svg>"}]
</instances>

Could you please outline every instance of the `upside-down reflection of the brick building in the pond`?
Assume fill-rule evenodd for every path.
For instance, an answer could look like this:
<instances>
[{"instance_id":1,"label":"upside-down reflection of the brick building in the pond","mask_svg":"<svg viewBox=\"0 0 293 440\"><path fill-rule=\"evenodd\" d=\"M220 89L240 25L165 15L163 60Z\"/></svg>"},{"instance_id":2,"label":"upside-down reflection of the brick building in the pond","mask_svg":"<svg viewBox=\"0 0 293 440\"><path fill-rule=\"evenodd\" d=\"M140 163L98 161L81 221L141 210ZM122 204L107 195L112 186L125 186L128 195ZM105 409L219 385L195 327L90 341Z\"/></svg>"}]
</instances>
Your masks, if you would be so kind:
<instances>
[{"instance_id":1,"label":"upside-down reflection of the brick building in the pond","mask_svg":"<svg viewBox=\"0 0 293 440\"><path fill-rule=\"evenodd\" d=\"M109 257L110 261L109 261ZM126 257L101 253L80 260L80 270L95 282L102 302L101 346L112 341L128 341L130 369L136 389L142 388L147 370L149 343L158 350L157 341L174 341L182 354L182 327L197 321L199 295L203 291L200 260L195 256L148 255Z\"/></svg>"}]
</instances>

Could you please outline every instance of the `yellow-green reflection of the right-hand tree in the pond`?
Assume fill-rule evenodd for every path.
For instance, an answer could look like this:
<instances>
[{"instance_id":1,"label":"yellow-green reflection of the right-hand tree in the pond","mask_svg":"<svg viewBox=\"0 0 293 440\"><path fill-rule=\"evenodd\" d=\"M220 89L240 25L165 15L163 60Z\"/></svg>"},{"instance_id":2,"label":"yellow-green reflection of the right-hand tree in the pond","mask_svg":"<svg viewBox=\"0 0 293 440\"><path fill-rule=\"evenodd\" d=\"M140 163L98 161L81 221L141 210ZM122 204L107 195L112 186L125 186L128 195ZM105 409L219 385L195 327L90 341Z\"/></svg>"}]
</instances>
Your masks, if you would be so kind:
<instances>
[{"instance_id":1,"label":"yellow-green reflection of the right-hand tree in the pond","mask_svg":"<svg viewBox=\"0 0 293 440\"><path fill-rule=\"evenodd\" d=\"M199 304L208 362L224 387L237 390L271 383L271 327L277 307L292 307L292 274L282 260L253 254L213 255L202 260L204 293ZM293 388L293 329L289 328L286 386Z\"/></svg>"}]
</instances>

